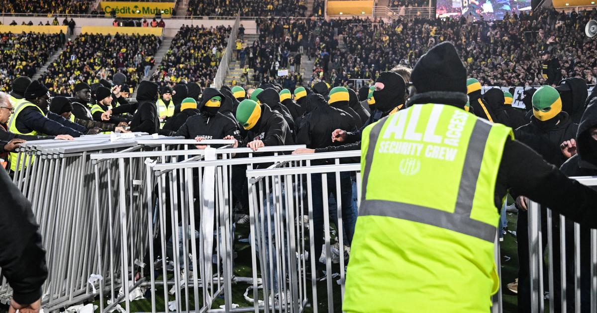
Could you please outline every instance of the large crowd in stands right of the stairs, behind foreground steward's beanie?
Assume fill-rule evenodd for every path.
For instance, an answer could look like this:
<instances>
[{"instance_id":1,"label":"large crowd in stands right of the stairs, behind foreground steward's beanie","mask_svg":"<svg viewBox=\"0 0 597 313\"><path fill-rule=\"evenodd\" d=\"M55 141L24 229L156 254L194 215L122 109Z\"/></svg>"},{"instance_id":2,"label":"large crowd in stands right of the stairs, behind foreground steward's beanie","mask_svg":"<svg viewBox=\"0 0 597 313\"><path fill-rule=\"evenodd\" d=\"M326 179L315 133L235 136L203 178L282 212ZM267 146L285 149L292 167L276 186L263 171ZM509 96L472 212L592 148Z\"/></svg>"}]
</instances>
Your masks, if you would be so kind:
<instances>
[{"instance_id":1,"label":"large crowd in stands right of the stairs, behind foreground steward's beanie","mask_svg":"<svg viewBox=\"0 0 597 313\"><path fill-rule=\"evenodd\" d=\"M580 76L595 83L597 41L577 31L597 11L570 16L554 10L507 16L502 21L396 20L391 24L370 20L336 20L321 23L321 37L315 47L316 73L342 85L349 79L375 79L378 73L396 64L413 66L436 42L454 42L471 76L483 85L542 85L542 51L550 50L561 63L563 77ZM314 28L315 30L317 27ZM346 51L335 49L337 36L343 35ZM317 42L318 41L318 42ZM558 50L557 47L566 47Z\"/></svg>"}]
</instances>

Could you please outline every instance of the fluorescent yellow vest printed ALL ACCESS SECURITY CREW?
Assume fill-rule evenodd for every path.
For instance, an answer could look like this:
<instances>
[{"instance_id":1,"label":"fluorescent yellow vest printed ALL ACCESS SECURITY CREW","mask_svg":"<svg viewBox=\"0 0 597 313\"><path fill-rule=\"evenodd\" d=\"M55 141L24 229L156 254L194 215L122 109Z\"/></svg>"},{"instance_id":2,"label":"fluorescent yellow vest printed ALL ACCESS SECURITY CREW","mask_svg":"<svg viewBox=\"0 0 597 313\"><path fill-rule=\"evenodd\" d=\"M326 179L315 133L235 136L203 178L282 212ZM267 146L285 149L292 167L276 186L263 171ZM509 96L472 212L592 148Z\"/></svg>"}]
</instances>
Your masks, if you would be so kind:
<instances>
[{"instance_id":1,"label":"fluorescent yellow vest printed ALL ACCESS SECURITY CREW","mask_svg":"<svg viewBox=\"0 0 597 313\"><path fill-rule=\"evenodd\" d=\"M494 190L512 129L417 104L365 128L345 312L490 311Z\"/></svg>"}]
</instances>

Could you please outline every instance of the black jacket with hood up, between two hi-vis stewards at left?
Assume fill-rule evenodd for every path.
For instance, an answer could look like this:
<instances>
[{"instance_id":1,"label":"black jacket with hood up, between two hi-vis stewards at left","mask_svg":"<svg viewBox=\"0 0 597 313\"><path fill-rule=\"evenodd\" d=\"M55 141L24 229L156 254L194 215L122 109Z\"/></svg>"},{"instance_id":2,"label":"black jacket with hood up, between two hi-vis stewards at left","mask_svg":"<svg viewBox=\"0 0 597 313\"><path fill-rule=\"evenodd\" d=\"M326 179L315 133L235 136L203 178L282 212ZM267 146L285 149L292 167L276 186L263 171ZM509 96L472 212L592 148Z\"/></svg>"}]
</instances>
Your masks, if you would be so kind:
<instances>
[{"instance_id":1,"label":"black jacket with hood up, between two hi-vis stewards at left","mask_svg":"<svg viewBox=\"0 0 597 313\"><path fill-rule=\"evenodd\" d=\"M159 114L156 101L158 101L159 86L156 83L144 80L137 89L137 103L139 109L131 120L131 132L146 132L147 134L170 135L170 131L159 129Z\"/></svg>"}]
</instances>

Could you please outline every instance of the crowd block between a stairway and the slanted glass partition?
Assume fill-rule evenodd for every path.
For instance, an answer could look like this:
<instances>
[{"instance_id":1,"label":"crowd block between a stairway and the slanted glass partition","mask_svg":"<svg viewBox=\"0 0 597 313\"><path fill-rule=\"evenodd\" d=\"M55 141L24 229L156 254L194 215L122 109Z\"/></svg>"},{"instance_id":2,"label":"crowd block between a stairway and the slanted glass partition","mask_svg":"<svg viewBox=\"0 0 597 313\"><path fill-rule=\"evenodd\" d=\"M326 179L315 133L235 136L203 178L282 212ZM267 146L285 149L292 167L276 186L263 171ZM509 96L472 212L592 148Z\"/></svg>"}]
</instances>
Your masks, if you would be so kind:
<instances>
[{"instance_id":1,"label":"crowd block between a stairway and the slanted glass partition","mask_svg":"<svg viewBox=\"0 0 597 313\"><path fill-rule=\"evenodd\" d=\"M210 29L203 26L181 27L151 80L162 86L172 86L183 79L196 82L202 88L210 86L230 30L231 27L224 26Z\"/></svg>"}]
</instances>

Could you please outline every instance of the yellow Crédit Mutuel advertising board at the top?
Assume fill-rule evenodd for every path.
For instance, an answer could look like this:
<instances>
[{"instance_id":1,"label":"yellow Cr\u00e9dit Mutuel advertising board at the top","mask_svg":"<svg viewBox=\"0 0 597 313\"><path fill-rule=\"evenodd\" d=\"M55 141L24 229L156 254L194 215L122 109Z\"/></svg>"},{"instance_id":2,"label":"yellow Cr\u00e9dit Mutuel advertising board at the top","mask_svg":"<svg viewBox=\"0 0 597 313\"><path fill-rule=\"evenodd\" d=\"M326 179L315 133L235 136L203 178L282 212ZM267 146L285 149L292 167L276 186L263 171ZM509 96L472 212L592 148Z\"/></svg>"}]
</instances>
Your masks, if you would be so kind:
<instances>
[{"instance_id":1,"label":"yellow Cr\u00e9dit Mutuel advertising board at the top","mask_svg":"<svg viewBox=\"0 0 597 313\"><path fill-rule=\"evenodd\" d=\"M116 16L120 17L144 17L156 16L161 13L162 16L172 16L174 13L174 4L176 2L122 2L122 1L101 1L100 7L104 13L109 16L112 10L116 11Z\"/></svg>"}]
</instances>

